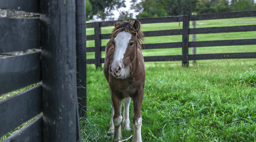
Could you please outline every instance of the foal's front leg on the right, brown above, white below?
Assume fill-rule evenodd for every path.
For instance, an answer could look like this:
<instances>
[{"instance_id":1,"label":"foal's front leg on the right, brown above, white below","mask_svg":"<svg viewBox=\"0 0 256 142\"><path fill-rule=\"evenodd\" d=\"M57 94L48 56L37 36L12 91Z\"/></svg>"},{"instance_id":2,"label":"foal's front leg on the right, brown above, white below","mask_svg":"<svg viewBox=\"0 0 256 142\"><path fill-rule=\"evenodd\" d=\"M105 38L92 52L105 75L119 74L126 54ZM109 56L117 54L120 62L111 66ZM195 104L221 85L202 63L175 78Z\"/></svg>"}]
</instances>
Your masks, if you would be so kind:
<instances>
[{"instance_id":1,"label":"foal's front leg on the right, brown above, white below","mask_svg":"<svg viewBox=\"0 0 256 142\"><path fill-rule=\"evenodd\" d=\"M141 104L143 100L144 90L140 91L140 93L132 98L134 102L134 117L132 118L134 126L133 126L133 138L132 142L142 142L141 139L141 125L142 125L142 117L141 117Z\"/></svg>"}]
</instances>

